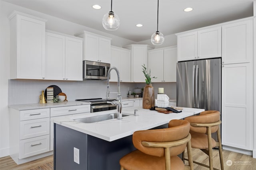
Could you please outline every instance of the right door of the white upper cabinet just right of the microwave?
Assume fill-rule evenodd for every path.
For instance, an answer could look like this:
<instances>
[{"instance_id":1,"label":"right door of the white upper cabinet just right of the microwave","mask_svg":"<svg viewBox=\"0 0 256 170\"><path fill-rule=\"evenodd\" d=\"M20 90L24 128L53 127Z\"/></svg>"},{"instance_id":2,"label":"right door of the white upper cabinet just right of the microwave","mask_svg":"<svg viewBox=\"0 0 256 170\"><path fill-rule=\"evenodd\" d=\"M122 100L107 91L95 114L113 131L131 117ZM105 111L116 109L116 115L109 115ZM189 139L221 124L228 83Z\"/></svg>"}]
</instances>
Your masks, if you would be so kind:
<instances>
[{"instance_id":1,"label":"right door of the white upper cabinet just right of the microwave","mask_svg":"<svg viewBox=\"0 0 256 170\"><path fill-rule=\"evenodd\" d=\"M131 82L131 52L120 51L120 79L121 82Z\"/></svg>"}]
</instances>

